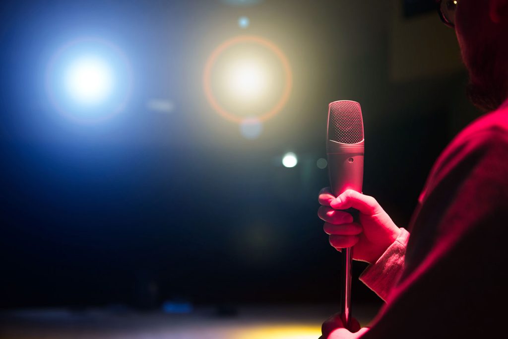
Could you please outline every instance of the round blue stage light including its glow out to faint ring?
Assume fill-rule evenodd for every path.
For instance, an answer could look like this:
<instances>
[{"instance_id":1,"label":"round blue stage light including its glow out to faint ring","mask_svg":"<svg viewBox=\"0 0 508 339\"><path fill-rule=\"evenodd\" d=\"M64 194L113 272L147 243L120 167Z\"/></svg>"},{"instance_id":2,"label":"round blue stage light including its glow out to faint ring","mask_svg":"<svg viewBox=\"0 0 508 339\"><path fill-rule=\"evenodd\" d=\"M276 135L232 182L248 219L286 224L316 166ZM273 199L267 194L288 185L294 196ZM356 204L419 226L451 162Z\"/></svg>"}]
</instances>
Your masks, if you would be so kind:
<instances>
[{"instance_id":1,"label":"round blue stage light including its glow out to faint ring","mask_svg":"<svg viewBox=\"0 0 508 339\"><path fill-rule=\"evenodd\" d=\"M46 91L58 113L85 124L123 111L132 93L132 68L109 41L85 37L61 46L46 69Z\"/></svg>"}]
</instances>

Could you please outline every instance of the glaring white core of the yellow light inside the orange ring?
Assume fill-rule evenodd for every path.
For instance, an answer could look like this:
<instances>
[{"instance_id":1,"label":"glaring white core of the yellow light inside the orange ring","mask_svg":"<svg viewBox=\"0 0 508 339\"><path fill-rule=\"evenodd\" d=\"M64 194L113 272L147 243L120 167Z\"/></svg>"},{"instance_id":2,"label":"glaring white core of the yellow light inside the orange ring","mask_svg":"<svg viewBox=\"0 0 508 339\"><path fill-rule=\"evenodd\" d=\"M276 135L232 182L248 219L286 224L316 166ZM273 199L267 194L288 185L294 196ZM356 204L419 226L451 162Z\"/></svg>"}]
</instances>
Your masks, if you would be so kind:
<instances>
[{"instance_id":1,"label":"glaring white core of the yellow light inside the orange ring","mask_svg":"<svg viewBox=\"0 0 508 339\"><path fill-rule=\"evenodd\" d=\"M227 76L230 93L244 101L259 99L268 86L266 71L260 63L241 60L232 65Z\"/></svg>"}]
</instances>

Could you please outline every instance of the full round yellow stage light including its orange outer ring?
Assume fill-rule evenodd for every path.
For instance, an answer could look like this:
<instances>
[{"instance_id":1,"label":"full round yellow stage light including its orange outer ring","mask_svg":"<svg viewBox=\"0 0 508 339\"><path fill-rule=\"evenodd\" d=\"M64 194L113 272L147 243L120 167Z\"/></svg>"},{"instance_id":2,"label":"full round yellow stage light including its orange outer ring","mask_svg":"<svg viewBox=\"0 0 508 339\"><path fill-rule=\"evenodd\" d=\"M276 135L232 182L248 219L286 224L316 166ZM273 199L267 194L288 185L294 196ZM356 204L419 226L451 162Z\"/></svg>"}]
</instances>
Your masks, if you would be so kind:
<instances>
[{"instance_id":1,"label":"full round yellow stage light including its orange outer ring","mask_svg":"<svg viewBox=\"0 0 508 339\"><path fill-rule=\"evenodd\" d=\"M259 57L256 55L258 53L254 52L255 55L251 57L241 52L242 49L252 52L252 47L259 49L260 55L263 55L265 51L271 55L269 58ZM238 59L234 53L228 55L228 52L234 51L235 48L236 56L240 56ZM225 59L220 59L219 57L224 54L226 54ZM270 58L275 59L275 66ZM220 60L217 63L218 59ZM236 61L232 61L235 59ZM231 65L227 65L228 62ZM219 82L212 81L212 73L214 73L212 71L220 74ZM277 89L278 82L281 83L280 96ZM293 75L287 57L274 43L257 36L240 36L220 44L208 57L203 74L203 87L210 105L221 116L239 124L242 124L249 116L255 117L259 122L272 118L287 103L292 86ZM263 103L270 103L274 93L273 106L270 104L263 107ZM256 110L257 107L261 107L259 113L252 113L252 110Z\"/></svg>"}]
</instances>

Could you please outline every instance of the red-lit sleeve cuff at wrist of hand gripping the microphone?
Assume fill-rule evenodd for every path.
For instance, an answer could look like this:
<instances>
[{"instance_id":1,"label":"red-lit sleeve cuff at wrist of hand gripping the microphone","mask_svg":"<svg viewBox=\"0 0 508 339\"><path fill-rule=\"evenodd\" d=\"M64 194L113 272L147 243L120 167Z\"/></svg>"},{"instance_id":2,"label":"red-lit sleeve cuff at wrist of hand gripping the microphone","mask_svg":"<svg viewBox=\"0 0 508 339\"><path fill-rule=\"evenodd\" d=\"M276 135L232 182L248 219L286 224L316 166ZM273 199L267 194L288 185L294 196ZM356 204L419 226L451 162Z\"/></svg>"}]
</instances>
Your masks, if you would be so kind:
<instances>
[{"instance_id":1,"label":"red-lit sleeve cuff at wrist of hand gripping the microphone","mask_svg":"<svg viewBox=\"0 0 508 339\"><path fill-rule=\"evenodd\" d=\"M360 275L360 280L385 301L404 269L408 240L409 232L401 228L399 236L385 253Z\"/></svg>"}]
</instances>

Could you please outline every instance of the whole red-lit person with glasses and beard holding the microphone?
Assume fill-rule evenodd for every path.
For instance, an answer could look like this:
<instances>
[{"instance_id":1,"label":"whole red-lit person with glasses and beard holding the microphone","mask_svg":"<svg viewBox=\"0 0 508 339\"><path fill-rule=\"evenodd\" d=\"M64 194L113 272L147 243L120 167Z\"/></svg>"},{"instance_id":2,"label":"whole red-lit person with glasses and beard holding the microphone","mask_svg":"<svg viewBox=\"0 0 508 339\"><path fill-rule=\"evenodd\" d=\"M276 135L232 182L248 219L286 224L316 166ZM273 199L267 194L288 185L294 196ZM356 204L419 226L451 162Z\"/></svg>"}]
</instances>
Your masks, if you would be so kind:
<instances>
[{"instance_id":1,"label":"whole red-lit person with glasses and beard holding the microphone","mask_svg":"<svg viewBox=\"0 0 508 339\"><path fill-rule=\"evenodd\" d=\"M457 13L449 12L454 3ZM494 110L464 129L436 161L407 231L372 198L320 194L335 248L370 262L361 279L387 304L371 329L351 333L335 316L323 337L498 336L504 320L508 227L508 1L442 3L471 75L473 103ZM447 12L448 11L448 12ZM452 16L453 14L453 16ZM475 22L472 18L477 18ZM483 30L482 30L483 28ZM488 35L487 37L485 35ZM483 40L482 40L483 39ZM490 54L489 54L490 53ZM504 101L504 103L502 103ZM360 224L340 209L360 210ZM409 241L407 242L407 239Z\"/></svg>"}]
</instances>

